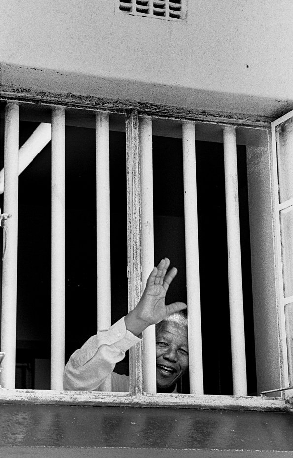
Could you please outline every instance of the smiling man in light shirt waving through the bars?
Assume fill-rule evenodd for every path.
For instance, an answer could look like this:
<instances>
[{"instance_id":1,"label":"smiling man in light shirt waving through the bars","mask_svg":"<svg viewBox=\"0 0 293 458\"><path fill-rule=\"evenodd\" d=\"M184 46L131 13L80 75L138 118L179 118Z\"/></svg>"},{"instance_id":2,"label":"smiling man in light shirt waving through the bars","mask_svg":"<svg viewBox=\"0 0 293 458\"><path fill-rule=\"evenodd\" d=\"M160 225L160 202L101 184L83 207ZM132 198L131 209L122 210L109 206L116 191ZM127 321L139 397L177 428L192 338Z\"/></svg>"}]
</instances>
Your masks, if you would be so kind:
<instances>
[{"instance_id":1,"label":"smiling man in light shirt waving through the bars","mask_svg":"<svg viewBox=\"0 0 293 458\"><path fill-rule=\"evenodd\" d=\"M176 392L176 382L188 368L187 319L183 302L165 304L168 288L177 275L170 261L162 259L152 270L134 310L108 330L98 331L71 355L64 370L65 390L102 390L111 377L112 391L129 391L129 377L114 367L126 350L139 342L142 332L156 324L156 375L158 392Z\"/></svg>"}]
</instances>

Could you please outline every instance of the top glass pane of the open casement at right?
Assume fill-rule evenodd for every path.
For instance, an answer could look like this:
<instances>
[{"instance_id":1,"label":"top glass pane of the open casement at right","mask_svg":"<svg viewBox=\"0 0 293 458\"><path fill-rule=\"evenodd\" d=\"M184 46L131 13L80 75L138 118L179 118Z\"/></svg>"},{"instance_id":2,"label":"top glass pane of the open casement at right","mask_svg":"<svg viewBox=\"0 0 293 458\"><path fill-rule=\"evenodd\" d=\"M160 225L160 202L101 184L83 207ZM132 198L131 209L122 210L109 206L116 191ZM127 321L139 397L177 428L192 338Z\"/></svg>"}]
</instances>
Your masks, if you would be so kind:
<instances>
[{"instance_id":1,"label":"top glass pane of the open casement at right","mask_svg":"<svg viewBox=\"0 0 293 458\"><path fill-rule=\"evenodd\" d=\"M293 197L293 119L276 130L280 202Z\"/></svg>"}]
</instances>

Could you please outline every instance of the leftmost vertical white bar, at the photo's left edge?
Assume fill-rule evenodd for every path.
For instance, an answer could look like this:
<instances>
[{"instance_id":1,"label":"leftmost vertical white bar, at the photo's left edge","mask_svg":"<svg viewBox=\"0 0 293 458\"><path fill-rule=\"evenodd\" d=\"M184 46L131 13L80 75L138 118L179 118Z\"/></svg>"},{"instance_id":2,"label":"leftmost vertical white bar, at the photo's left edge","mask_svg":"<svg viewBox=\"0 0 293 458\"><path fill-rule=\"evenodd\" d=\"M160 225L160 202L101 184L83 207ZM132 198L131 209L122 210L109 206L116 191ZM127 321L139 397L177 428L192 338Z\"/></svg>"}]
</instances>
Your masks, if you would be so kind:
<instances>
[{"instance_id":1,"label":"leftmost vertical white bar, at the photo's left edge","mask_svg":"<svg viewBox=\"0 0 293 458\"><path fill-rule=\"evenodd\" d=\"M6 353L1 373L3 388L15 387L16 299L17 299L17 226L18 226L18 131L19 106L7 103L5 109L4 213L6 241L3 244L1 351ZM5 248L6 242L6 248ZM5 250L5 251L4 251Z\"/></svg>"}]
</instances>

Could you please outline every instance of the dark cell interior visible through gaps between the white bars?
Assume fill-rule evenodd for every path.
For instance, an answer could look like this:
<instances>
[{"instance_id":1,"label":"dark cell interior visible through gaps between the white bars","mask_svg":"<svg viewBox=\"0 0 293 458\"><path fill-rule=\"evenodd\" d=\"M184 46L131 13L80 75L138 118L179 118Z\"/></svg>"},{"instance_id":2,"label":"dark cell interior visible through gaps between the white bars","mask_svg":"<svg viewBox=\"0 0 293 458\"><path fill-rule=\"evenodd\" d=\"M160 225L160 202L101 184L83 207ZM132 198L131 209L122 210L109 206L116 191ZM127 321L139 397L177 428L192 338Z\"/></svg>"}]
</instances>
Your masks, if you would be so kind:
<instances>
[{"instance_id":1,"label":"dark cell interior visible through gaps between the white bars","mask_svg":"<svg viewBox=\"0 0 293 458\"><path fill-rule=\"evenodd\" d=\"M20 122L20 146L37 127ZM3 166L1 122L1 167ZM112 323L127 313L125 133L110 131ZM50 385L51 143L19 178L17 375ZM223 145L196 142L204 391L232 394ZM238 180L248 392L256 393L245 147ZM186 301L182 140L153 137L155 262L178 268L167 301ZM96 333L95 131L66 127L66 360ZM3 199L0 197L3 208ZM116 367L128 373L127 358ZM188 393L188 376L182 387Z\"/></svg>"}]
</instances>

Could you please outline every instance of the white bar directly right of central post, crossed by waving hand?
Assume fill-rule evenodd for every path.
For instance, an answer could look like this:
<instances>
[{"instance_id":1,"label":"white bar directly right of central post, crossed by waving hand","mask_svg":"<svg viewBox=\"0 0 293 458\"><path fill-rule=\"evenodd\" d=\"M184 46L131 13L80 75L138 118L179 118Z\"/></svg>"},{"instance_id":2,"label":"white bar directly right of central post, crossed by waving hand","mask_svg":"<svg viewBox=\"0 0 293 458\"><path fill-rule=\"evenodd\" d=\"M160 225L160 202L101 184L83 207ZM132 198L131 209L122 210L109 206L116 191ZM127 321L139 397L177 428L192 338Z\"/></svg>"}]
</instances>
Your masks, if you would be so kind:
<instances>
[{"instance_id":1,"label":"white bar directly right of central post, crossed by waving hand","mask_svg":"<svg viewBox=\"0 0 293 458\"><path fill-rule=\"evenodd\" d=\"M154 267L154 211L153 211L153 141L152 119L140 118L140 180L141 180L141 265L142 290ZM156 393L156 333L155 325L143 332L144 390Z\"/></svg>"}]
</instances>

